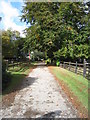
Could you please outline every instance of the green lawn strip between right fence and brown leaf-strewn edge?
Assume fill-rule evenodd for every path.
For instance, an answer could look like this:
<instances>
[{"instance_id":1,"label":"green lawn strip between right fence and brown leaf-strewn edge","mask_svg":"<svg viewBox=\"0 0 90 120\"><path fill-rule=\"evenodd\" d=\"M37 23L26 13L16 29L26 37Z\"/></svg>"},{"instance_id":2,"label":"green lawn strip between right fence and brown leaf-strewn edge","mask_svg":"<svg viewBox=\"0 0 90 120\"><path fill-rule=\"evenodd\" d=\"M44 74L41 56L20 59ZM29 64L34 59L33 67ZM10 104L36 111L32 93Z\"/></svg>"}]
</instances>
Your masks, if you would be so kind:
<instances>
[{"instance_id":1,"label":"green lawn strip between right fence and brown leaf-strewn edge","mask_svg":"<svg viewBox=\"0 0 90 120\"><path fill-rule=\"evenodd\" d=\"M52 67L52 72L69 87L70 91L77 96L78 101L88 109L88 80L60 67Z\"/></svg>"}]
</instances>

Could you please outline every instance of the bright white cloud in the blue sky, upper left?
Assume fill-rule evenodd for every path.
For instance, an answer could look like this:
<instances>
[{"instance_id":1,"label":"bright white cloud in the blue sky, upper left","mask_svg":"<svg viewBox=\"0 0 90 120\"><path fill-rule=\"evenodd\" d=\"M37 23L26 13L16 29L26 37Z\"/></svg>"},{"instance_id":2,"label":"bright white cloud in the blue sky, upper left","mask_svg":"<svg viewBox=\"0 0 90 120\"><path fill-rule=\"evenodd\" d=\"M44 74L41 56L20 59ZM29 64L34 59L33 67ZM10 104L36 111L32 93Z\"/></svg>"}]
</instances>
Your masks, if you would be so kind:
<instances>
[{"instance_id":1,"label":"bright white cloud in the blue sky, upper left","mask_svg":"<svg viewBox=\"0 0 90 120\"><path fill-rule=\"evenodd\" d=\"M0 2L0 13L3 14L2 24L4 25L4 29L12 28L13 30L17 30L21 33L21 36L24 37L23 31L26 28L26 25L18 25L15 23L14 19L19 19L20 11L17 8L12 7L10 2L1 1Z\"/></svg>"}]
</instances>

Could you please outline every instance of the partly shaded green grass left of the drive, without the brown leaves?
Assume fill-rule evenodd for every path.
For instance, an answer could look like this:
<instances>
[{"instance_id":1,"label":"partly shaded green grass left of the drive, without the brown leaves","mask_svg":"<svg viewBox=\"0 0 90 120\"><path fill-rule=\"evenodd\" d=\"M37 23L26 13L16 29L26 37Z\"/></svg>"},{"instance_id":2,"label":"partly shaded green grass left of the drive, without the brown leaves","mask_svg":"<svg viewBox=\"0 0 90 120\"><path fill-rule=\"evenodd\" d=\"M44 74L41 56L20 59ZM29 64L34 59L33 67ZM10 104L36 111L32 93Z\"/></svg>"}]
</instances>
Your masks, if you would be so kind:
<instances>
[{"instance_id":1,"label":"partly shaded green grass left of the drive, without the brown leaves","mask_svg":"<svg viewBox=\"0 0 90 120\"><path fill-rule=\"evenodd\" d=\"M11 73L11 81L9 86L3 91L3 95L13 92L21 85L22 80L29 74L31 69L34 67L34 63L22 62L20 65L16 65L8 68L8 72Z\"/></svg>"}]
</instances>

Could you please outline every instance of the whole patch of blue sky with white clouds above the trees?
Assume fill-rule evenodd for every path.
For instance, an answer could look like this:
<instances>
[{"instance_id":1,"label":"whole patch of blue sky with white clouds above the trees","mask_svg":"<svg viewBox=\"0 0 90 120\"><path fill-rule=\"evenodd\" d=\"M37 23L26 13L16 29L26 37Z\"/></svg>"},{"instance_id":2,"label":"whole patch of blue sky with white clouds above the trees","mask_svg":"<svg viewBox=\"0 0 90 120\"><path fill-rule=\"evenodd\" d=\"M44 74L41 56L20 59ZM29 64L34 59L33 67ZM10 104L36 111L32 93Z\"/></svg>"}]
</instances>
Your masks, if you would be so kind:
<instances>
[{"instance_id":1,"label":"whole patch of blue sky with white clouds above the trees","mask_svg":"<svg viewBox=\"0 0 90 120\"><path fill-rule=\"evenodd\" d=\"M19 31L22 37L25 37L23 30L27 25L20 21L23 5L23 0L0 0L0 17L2 17L0 29L12 28L12 30Z\"/></svg>"}]
</instances>

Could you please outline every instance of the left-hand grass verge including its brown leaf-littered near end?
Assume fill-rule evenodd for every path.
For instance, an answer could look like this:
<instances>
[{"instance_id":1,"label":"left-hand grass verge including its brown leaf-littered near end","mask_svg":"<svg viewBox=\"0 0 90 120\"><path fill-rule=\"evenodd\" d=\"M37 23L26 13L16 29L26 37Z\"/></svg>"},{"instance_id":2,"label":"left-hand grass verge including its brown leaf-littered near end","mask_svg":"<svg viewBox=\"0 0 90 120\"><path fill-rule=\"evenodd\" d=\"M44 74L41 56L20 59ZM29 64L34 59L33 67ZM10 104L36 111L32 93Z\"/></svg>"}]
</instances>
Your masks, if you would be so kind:
<instances>
[{"instance_id":1,"label":"left-hand grass verge including its brown leaf-littered near end","mask_svg":"<svg viewBox=\"0 0 90 120\"><path fill-rule=\"evenodd\" d=\"M8 72L11 73L11 81L8 87L2 93L2 106L7 108L12 105L15 99L15 95L21 89L23 80L30 71L35 67L35 63L22 62L20 65L16 65L8 68Z\"/></svg>"}]
</instances>

